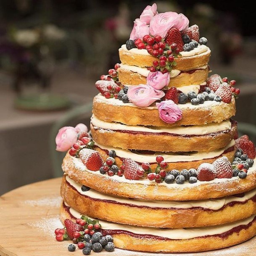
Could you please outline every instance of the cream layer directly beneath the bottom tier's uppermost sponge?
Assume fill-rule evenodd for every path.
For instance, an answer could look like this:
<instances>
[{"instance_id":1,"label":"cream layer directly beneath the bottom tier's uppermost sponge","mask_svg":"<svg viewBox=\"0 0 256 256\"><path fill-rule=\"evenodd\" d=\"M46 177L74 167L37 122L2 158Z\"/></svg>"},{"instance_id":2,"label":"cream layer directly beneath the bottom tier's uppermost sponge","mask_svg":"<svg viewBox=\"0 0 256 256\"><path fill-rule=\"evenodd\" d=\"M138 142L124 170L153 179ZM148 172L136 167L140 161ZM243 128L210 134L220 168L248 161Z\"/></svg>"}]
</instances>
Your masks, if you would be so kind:
<instances>
[{"instance_id":1,"label":"cream layer directly beneath the bottom tier's uppermost sponge","mask_svg":"<svg viewBox=\"0 0 256 256\"><path fill-rule=\"evenodd\" d=\"M217 199L208 199L208 200L198 200L198 201L149 201L149 200L139 200L139 199L129 199L129 198L121 198L113 195L103 194L96 190L90 189L88 191L82 191L82 185L74 182L74 180L70 179L66 176L66 181L74 187L81 195L89 196L90 198L106 200L106 201L114 201L116 203L126 203L132 204L135 206L147 206L152 208L182 208L188 209L193 207L201 207L210 210L219 210L224 205L227 205L231 202L245 202L253 196L256 195L256 189L248 191L245 193L243 197L236 196L227 196L225 198L217 198ZM111 203L111 202L110 202Z\"/></svg>"}]
</instances>

